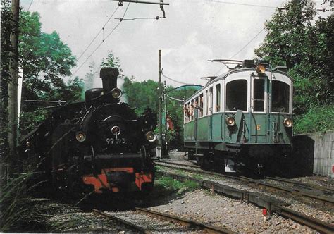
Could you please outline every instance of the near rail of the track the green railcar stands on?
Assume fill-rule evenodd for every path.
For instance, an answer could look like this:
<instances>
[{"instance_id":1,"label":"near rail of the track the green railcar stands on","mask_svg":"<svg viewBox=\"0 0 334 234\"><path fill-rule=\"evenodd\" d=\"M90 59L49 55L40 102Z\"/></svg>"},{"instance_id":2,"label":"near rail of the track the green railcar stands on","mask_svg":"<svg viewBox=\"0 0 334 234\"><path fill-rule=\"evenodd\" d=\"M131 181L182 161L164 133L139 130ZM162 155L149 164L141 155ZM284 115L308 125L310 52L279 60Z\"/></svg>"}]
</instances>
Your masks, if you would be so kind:
<instances>
[{"instance_id":1,"label":"near rail of the track the green railcar stands on","mask_svg":"<svg viewBox=\"0 0 334 234\"><path fill-rule=\"evenodd\" d=\"M163 164L161 164L161 163L163 163ZM269 184L269 183L264 183L264 182L261 182L259 180L254 180L252 178L248 178L248 177L245 177L245 176L228 176L228 175L223 175L221 173L214 173L214 172L210 172L210 171L198 171L198 170L189 169L189 168L177 168L175 166L165 165L165 164L169 164L169 162L166 162L166 161L163 161L161 163L156 162L156 165L166 166L166 167L175 168L175 169L182 169L184 171L190 171L190 172L195 172L195 173L207 174L207 175L210 175L210 176L220 176L220 177L223 177L223 178L232 178L232 179L235 179L235 180L243 180L243 181L248 182L248 183L254 183L258 186L269 187L269 188L272 188L272 189L275 189L275 190L280 190L280 191L283 191L283 192L287 192L287 193L290 193L292 195L299 195L299 196L302 196L302 197L317 199L321 202L326 202L328 204L334 204L334 200L329 199L327 197L312 195L308 192L300 192L300 191L296 191L296 190L290 190L290 189L287 189L285 187L281 187L281 186L278 186L278 185L272 185L272 184ZM176 165L176 163L172 163L172 164ZM178 166L193 167L193 166L190 166L190 165L178 165Z\"/></svg>"}]
</instances>

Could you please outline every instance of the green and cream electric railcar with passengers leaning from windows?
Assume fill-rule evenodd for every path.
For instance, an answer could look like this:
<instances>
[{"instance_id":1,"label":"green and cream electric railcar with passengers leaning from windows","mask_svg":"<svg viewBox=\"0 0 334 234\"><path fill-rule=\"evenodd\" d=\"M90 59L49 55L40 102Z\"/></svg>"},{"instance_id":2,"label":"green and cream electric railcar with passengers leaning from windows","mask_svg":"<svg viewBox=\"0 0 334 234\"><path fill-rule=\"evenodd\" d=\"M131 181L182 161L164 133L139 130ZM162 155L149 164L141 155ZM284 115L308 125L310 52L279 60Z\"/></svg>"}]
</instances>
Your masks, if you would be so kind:
<instances>
[{"instance_id":1,"label":"green and cream electric railcar with passengers leaning from windows","mask_svg":"<svg viewBox=\"0 0 334 234\"><path fill-rule=\"evenodd\" d=\"M290 156L292 78L268 63L244 61L219 75L185 101L184 113L185 149L203 166L272 169Z\"/></svg>"}]
</instances>

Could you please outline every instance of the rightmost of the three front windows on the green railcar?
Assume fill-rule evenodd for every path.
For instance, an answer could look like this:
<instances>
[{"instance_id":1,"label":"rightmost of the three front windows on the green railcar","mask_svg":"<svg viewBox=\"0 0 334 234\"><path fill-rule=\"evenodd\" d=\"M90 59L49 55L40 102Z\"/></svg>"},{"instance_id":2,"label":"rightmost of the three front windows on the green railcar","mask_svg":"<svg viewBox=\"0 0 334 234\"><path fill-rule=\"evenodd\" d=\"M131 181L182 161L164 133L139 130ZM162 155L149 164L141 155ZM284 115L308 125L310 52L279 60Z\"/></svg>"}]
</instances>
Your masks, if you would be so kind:
<instances>
[{"instance_id":1,"label":"rightmost of the three front windows on the green railcar","mask_svg":"<svg viewBox=\"0 0 334 234\"><path fill-rule=\"evenodd\" d=\"M285 82L273 80L271 89L271 111L288 113L290 102L290 86Z\"/></svg>"}]
</instances>

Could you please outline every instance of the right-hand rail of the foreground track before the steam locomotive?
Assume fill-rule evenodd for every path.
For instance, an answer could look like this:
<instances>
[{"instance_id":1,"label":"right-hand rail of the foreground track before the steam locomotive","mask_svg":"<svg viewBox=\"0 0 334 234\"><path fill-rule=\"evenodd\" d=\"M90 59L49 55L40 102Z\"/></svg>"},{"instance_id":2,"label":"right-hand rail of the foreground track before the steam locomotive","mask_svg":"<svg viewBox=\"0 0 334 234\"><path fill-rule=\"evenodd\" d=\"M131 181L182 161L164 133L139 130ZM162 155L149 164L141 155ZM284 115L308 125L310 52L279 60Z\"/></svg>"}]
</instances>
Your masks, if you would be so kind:
<instances>
[{"instance_id":1,"label":"right-hand rail of the foreground track before the steam locomotive","mask_svg":"<svg viewBox=\"0 0 334 234\"><path fill-rule=\"evenodd\" d=\"M159 218L163 218L168 221L180 223L181 225L186 226L187 228L200 228L201 230L205 230L208 233L233 233L232 231L225 229L225 228L219 228L216 226L206 225L204 223L199 223L197 221L192 221L186 218L180 218L177 216L173 216L171 214L163 214L160 212L151 211L149 209L143 209L143 208L138 208L138 207L136 207L135 209L136 211L139 211L142 214L158 216Z\"/></svg>"}]
</instances>

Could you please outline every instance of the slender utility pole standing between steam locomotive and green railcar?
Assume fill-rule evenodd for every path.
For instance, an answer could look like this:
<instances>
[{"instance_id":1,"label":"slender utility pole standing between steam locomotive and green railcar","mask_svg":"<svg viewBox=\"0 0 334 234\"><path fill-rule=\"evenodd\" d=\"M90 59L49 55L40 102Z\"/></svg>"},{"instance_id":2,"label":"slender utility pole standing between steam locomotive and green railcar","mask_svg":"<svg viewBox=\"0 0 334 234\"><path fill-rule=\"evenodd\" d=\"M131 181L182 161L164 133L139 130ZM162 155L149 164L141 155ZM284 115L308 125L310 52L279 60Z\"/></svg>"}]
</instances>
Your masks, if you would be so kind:
<instances>
[{"instance_id":1,"label":"slender utility pole standing between steam locomotive and green railcar","mask_svg":"<svg viewBox=\"0 0 334 234\"><path fill-rule=\"evenodd\" d=\"M156 148L156 156L162 158L161 147L162 147L162 84L161 84L161 49L159 49L159 82L158 82L158 129L159 129L159 145Z\"/></svg>"}]
</instances>

